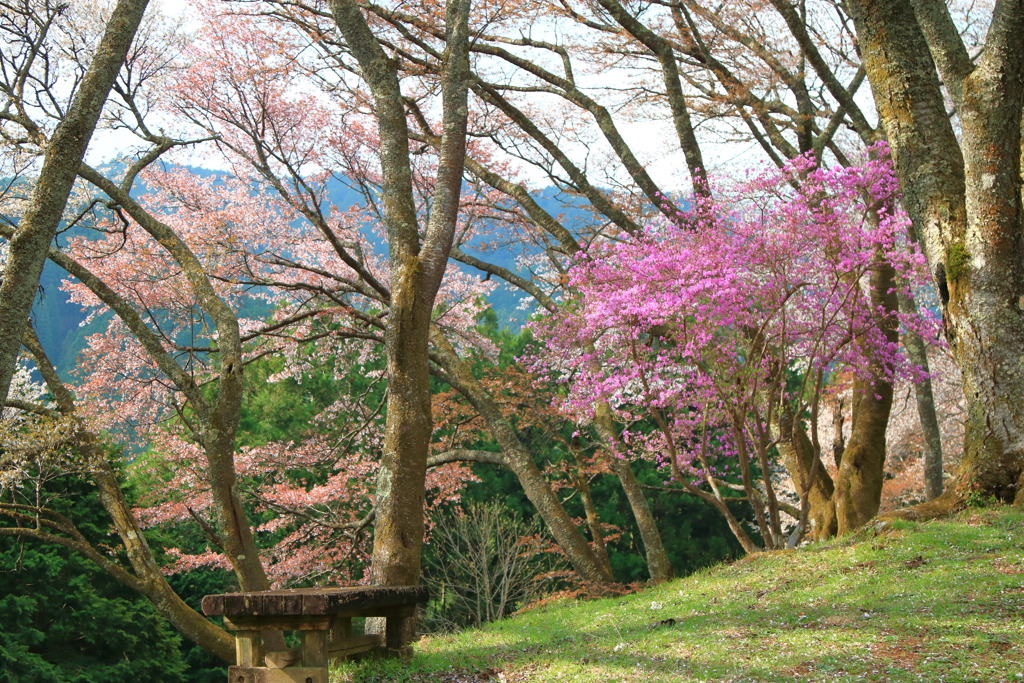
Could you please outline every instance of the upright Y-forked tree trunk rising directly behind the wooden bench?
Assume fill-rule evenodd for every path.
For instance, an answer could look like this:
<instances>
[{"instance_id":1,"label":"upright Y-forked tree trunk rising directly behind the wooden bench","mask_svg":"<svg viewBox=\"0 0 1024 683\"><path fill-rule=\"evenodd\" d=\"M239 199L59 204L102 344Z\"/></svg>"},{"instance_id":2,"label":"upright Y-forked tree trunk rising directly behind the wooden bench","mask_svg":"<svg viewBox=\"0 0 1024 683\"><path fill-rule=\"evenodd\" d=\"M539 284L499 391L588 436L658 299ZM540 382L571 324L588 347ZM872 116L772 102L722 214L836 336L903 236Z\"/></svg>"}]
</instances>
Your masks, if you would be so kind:
<instances>
[{"instance_id":1,"label":"upright Y-forked tree trunk rising directly behind the wooden bench","mask_svg":"<svg viewBox=\"0 0 1024 683\"><path fill-rule=\"evenodd\" d=\"M421 240L413 193L409 127L395 62L351 0L331 12L373 94L381 138L384 223L391 269L385 330L388 398L377 487L373 581L420 581L425 477L433 422L428 340L455 236L466 154L469 0L450 0L441 74L442 126L430 219Z\"/></svg>"}]
</instances>

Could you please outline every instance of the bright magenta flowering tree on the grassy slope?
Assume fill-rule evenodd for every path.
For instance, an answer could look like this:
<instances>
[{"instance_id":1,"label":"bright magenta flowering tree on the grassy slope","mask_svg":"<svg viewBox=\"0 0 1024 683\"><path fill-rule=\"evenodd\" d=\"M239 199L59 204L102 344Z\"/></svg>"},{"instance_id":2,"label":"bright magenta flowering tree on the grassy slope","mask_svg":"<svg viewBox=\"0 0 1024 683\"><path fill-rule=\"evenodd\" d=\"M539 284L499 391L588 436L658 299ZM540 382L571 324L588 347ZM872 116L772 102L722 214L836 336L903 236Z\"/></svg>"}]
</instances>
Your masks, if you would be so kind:
<instances>
[{"instance_id":1,"label":"bright magenta flowering tree on the grassy slope","mask_svg":"<svg viewBox=\"0 0 1024 683\"><path fill-rule=\"evenodd\" d=\"M894 379L921 379L900 354L899 326L936 337L934 319L892 301L927 278L898 237L907 218L897 190L883 147L850 168L802 157L595 245L569 273L574 300L536 324L546 351L535 368L565 382L563 408L582 422L611 405L626 425L618 453L653 460L715 506L748 552L758 546L727 505L730 488L743 492L766 548L831 525L812 511L828 478L817 418L829 377L852 374L873 402L888 386L891 402ZM772 483L780 458L799 508Z\"/></svg>"}]
</instances>

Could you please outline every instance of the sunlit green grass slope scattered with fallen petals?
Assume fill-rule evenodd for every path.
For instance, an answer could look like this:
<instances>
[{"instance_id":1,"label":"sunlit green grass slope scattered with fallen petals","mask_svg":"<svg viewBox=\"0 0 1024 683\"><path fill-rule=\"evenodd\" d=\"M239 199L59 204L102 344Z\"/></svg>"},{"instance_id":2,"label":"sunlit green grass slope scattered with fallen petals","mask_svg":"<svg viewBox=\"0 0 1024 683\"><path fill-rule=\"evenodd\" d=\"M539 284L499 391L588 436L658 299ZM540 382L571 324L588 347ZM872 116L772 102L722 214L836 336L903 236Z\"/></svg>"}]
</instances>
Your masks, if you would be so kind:
<instances>
[{"instance_id":1,"label":"sunlit green grass slope scattered with fallen petals","mask_svg":"<svg viewBox=\"0 0 1024 683\"><path fill-rule=\"evenodd\" d=\"M411 661L332 680L1024 681L1022 548L1008 508L895 522L425 638Z\"/></svg>"}]
</instances>

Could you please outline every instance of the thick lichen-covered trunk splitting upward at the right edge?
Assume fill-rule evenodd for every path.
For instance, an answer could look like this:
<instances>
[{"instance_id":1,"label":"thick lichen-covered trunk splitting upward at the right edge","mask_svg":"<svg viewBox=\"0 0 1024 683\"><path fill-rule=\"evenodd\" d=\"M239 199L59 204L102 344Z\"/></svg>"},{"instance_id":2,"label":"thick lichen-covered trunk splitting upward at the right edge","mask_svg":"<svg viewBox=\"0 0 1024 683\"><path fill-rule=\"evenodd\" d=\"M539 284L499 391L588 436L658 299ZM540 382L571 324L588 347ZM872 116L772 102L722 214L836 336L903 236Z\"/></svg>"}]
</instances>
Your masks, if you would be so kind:
<instances>
[{"instance_id":1,"label":"thick lichen-covered trunk splitting upward at the right edge","mask_svg":"<svg viewBox=\"0 0 1024 683\"><path fill-rule=\"evenodd\" d=\"M1024 0L995 3L977 62L943 2L849 7L968 407L956 484L918 513L953 509L975 494L1024 504Z\"/></svg>"}]
</instances>

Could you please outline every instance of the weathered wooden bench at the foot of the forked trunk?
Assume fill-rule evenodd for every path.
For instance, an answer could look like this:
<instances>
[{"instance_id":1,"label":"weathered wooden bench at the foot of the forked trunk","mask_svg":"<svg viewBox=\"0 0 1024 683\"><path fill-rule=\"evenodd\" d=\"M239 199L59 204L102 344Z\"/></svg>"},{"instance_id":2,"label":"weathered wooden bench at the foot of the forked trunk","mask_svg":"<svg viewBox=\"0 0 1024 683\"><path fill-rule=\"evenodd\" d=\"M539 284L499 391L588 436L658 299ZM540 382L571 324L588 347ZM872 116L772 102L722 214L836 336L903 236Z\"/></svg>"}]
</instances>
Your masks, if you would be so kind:
<instances>
[{"instance_id":1,"label":"weathered wooden bench at the foot of the forked trunk","mask_svg":"<svg viewBox=\"0 0 1024 683\"><path fill-rule=\"evenodd\" d=\"M203 613L223 616L234 631L236 666L228 683L328 683L329 658L384 647L399 653L409 645L424 586L357 586L293 591L225 593L203 598ZM353 616L386 617L384 636L352 636ZM267 652L261 631L298 631L301 647Z\"/></svg>"}]
</instances>

